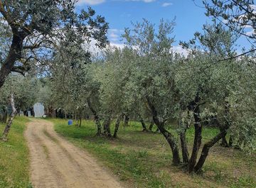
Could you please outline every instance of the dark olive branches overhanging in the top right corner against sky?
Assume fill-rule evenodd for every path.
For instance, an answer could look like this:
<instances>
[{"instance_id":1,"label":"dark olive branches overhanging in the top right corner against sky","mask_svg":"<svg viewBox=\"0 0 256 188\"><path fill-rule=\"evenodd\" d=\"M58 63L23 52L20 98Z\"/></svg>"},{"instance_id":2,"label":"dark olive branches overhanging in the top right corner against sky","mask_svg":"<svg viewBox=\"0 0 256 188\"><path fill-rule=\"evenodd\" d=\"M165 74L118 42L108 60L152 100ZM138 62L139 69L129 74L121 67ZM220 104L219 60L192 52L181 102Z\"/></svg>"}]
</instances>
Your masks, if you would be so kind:
<instances>
[{"instance_id":1,"label":"dark olive branches overhanging in the top right corner against sky","mask_svg":"<svg viewBox=\"0 0 256 188\"><path fill-rule=\"evenodd\" d=\"M213 18L213 21L218 21L233 32L245 37L249 42L248 44L252 46L250 50L235 55L232 58L240 57L256 50L256 13L254 0L203 0L203 5L206 8L206 16Z\"/></svg>"}]
</instances>

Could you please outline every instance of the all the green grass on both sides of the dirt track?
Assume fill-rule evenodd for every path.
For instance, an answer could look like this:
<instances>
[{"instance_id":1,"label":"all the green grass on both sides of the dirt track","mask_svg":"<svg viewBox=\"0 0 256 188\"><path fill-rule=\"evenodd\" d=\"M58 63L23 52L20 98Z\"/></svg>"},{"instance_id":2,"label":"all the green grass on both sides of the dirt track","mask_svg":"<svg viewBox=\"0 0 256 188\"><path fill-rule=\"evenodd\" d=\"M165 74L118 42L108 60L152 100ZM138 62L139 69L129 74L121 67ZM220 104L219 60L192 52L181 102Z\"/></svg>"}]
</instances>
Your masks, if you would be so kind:
<instances>
[{"instance_id":1,"label":"all the green grass on both sides of the dirt track","mask_svg":"<svg viewBox=\"0 0 256 188\"><path fill-rule=\"evenodd\" d=\"M67 121L50 119L55 131L78 147L88 150L112 170L127 187L256 187L256 156L240 150L215 146L204 166L203 175L188 175L171 165L171 152L159 133L143 133L139 123L120 127L119 138L95 137L93 121L82 127L67 126ZM31 187L28 172L28 148L23 138L26 117L17 117L7 143L0 143L0 187ZM0 131L4 125L0 124ZM218 130L207 128L203 141ZM188 131L188 146L193 129Z\"/></svg>"}]
</instances>

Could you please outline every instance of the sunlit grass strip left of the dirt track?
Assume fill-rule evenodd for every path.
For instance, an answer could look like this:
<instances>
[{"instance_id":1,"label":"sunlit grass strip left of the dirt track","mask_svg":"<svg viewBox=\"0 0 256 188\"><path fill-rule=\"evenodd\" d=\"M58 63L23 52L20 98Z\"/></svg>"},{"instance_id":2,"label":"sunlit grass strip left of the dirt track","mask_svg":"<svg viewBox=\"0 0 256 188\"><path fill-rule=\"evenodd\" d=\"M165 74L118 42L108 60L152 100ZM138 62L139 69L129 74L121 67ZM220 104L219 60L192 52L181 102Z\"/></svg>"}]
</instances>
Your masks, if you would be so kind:
<instances>
[{"instance_id":1,"label":"sunlit grass strip left of the dirt track","mask_svg":"<svg viewBox=\"0 0 256 188\"><path fill-rule=\"evenodd\" d=\"M29 182L28 147L23 137L26 117L17 117L11 126L9 140L0 142L0 187L19 188L31 187ZM4 131L4 124L0 124L0 131Z\"/></svg>"}]
</instances>

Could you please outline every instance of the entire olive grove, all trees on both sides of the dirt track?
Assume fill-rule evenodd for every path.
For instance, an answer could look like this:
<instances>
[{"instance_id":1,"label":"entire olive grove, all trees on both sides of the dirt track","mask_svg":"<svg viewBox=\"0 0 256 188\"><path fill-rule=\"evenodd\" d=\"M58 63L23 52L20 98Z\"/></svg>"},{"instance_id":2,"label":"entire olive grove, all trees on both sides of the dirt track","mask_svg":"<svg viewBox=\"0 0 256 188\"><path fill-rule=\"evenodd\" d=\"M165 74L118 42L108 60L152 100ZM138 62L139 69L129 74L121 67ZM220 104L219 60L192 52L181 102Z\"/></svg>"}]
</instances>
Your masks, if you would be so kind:
<instances>
[{"instance_id":1,"label":"entire olive grove, all trees on both sides of the dirt track","mask_svg":"<svg viewBox=\"0 0 256 188\"><path fill-rule=\"evenodd\" d=\"M156 26L143 19L125 29L124 48L112 48L107 45L105 18L95 18L90 8L78 15L71 0L0 1L4 20L0 26L5 29L0 37L7 38L0 40L3 109L10 97L11 104L15 100L15 113L40 101L48 116L61 110L65 118L77 119L78 126L82 118L91 116L95 135L106 138L118 137L124 119L139 121L145 132L155 125L169 144L173 164L190 173L203 170L210 148L218 143L252 152L256 143L255 34L247 35L252 49L240 54L236 44L246 35L243 26L255 29L253 2L203 2L206 14L215 19L194 38L181 42L188 52L184 56L173 48L175 20L161 20ZM238 13L245 11L244 19L237 18L239 23L234 7ZM228 22L223 24L219 17ZM96 57L90 52L92 39L104 48ZM38 77L11 74L37 72L38 67L43 67L40 82ZM219 133L203 143L206 126L217 127ZM188 129L194 131L191 148Z\"/></svg>"}]
</instances>

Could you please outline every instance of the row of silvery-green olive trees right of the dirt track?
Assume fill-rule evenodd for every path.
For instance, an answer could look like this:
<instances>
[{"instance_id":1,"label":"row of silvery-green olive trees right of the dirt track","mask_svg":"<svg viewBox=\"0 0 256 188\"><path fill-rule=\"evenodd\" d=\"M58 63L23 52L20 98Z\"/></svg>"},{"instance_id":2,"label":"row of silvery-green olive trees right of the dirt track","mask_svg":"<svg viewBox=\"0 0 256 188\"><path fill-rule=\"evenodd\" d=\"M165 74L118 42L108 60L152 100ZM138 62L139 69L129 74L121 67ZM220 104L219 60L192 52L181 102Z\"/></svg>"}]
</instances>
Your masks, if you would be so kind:
<instances>
[{"instance_id":1,"label":"row of silvery-green olive trees right of the dirt track","mask_svg":"<svg viewBox=\"0 0 256 188\"><path fill-rule=\"evenodd\" d=\"M174 165L200 172L210 148L221 139L225 146L235 140L244 148L255 146L255 65L250 63L253 54L230 58L236 55L238 35L217 23L204 26L204 32L196 33L190 43L182 43L189 52L183 57L171 50L174 25L174 21L161 21L156 31L146 20L136 23L123 35L124 49L106 50L92 62L81 45L66 45L65 58L59 53L53 63L58 65L52 68L54 105L80 114L90 109L99 136L117 137L124 116L137 117L144 130L144 119L152 119L170 145ZM170 127L173 119L178 125ZM207 124L220 133L203 145ZM192 127L195 134L189 152L186 131Z\"/></svg>"}]
</instances>

